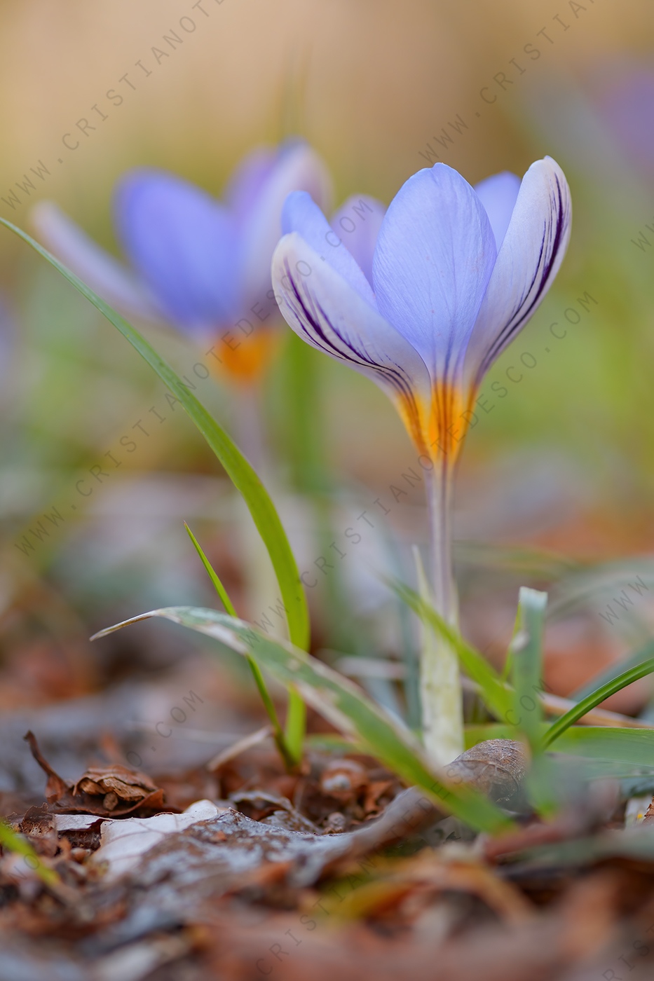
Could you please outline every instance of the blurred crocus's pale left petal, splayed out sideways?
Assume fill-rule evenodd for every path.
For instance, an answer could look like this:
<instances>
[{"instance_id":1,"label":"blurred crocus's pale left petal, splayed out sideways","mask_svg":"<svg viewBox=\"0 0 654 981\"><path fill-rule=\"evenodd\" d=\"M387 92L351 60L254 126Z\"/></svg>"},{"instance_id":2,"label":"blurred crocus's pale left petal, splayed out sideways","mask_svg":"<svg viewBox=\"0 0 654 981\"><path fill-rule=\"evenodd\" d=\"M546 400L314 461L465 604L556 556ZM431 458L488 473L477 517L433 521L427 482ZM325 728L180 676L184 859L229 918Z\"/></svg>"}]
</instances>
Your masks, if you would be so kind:
<instances>
[{"instance_id":1,"label":"blurred crocus's pale left petal, splayed out sideways","mask_svg":"<svg viewBox=\"0 0 654 981\"><path fill-rule=\"evenodd\" d=\"M162 319L162 311L147 287L82 232L53 201L39 201L29 217L45 247L102 299L128 317Z\"/></svg>"}]
</instances>

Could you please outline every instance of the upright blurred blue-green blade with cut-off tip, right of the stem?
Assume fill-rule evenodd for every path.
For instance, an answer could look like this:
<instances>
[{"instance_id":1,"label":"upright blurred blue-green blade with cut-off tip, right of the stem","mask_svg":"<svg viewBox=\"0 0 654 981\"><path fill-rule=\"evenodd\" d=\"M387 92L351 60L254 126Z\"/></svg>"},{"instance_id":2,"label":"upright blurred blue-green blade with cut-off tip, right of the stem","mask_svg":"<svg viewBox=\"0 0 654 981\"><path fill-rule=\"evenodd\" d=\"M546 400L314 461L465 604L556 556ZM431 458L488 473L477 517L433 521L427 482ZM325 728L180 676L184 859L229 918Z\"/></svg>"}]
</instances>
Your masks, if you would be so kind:
<instances>
[{"instance_id":1,"label":"upright blurred blue-green blade with cut-off tip, right of the stem","mask_svg":"<svg viewBox=\"0 0 654 981\"><path fill-rule=\"evenodd\" d=\"M534 753L540 749L543 719L540 693L546 605L546 593L522 587L518 599L517 630L510 653L515 713L515 718L510 721L516 724Z\"/></svg>"}]
</instances>

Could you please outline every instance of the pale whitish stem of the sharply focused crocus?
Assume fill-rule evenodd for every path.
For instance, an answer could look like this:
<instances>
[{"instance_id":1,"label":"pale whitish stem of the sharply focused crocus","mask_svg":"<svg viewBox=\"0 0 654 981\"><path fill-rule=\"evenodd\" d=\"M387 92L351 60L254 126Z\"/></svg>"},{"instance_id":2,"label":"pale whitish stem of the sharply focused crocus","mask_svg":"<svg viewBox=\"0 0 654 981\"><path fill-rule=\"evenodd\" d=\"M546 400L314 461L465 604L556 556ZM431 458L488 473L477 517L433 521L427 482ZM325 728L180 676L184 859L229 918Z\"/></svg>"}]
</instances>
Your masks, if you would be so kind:
<instances>
[{"instance_id":1,"label":"pale whitish stem of the sharply focused crocus","mask_svg":"<svg viewBox=\"0 0 654 981\"><path fill-rule=\"evenodd\" d=\"M424 573L420 592L452 626L459 623L459 603L452 565L452 496L454 474L447 462L426 478L431 545L431 589ZM419 574L419 571L418 571ZM431 628L422 632L420 658L422 731L429 757L438 766L463 752L463 700L457 652Z\"/></svg>"}]
</instances>

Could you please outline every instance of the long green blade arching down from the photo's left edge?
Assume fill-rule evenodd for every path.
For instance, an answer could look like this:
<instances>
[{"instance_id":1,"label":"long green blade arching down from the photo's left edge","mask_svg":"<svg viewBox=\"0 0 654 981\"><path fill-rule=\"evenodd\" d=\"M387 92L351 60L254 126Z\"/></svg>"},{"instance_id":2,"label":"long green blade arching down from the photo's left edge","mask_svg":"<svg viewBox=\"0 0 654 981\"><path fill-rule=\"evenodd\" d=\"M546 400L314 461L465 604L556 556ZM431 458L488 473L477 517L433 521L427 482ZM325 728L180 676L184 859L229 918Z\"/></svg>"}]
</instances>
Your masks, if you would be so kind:
<instances>
[{"instance_id":1,"label":"long green blade arching down from the photo's left edge","mask_svg":"<svg viewBox=\"0 0 654 981\"><path fill-rule=\"evenodd\" d=\"M192 395L170 365L157 354L152 345L131 324L116 313L92 289L82 283L82 280L67 269L63 263L34 241L27 232L23 232L4 218L0 218L0 224L26 241L35 252L38 252L69 283L73 284L82 293L82 296L92 303L130 341L161 381L180 400L191 420L222 463L234 486L243 494L249 513L265 543L277 576L282 600L286 608L289 636L295 645L306 649L309 639L308 608L300 583L298 566L270 495L243 453L218 423L212 419L204 406Z\"/></svg>"}]
</instances>

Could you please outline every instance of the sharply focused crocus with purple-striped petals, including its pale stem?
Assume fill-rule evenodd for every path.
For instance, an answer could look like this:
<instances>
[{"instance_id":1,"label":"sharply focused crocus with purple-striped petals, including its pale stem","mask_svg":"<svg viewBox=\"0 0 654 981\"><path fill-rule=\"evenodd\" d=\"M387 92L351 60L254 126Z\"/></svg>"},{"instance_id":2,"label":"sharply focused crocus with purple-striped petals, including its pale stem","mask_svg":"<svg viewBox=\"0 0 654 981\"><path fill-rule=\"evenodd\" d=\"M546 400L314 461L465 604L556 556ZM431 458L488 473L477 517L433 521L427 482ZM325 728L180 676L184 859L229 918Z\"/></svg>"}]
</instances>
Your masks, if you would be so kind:
<instances>
[{"instance_id":1,"label":"sharply focused crocus with purple-striped petals, including its pale stem","mask_svg":"<svg viewBox=\"0 0 654 981\"><path fill-rule=\"evenodd\" d=\"M397 406L426 472L432 598L456 622L454 465L481 379L563 260L571 226L564 174L549 157L522 181L503 173L474 188L444 164L421 170L391 202L367 254L363 232L351 252L307 193L289 196L283 226L272 263L280 309L296 334L368 376ZM422 664L424 740L444 763L463 749L459 674L446 645L432 653Z\"/></svg>"}]
</instances>

